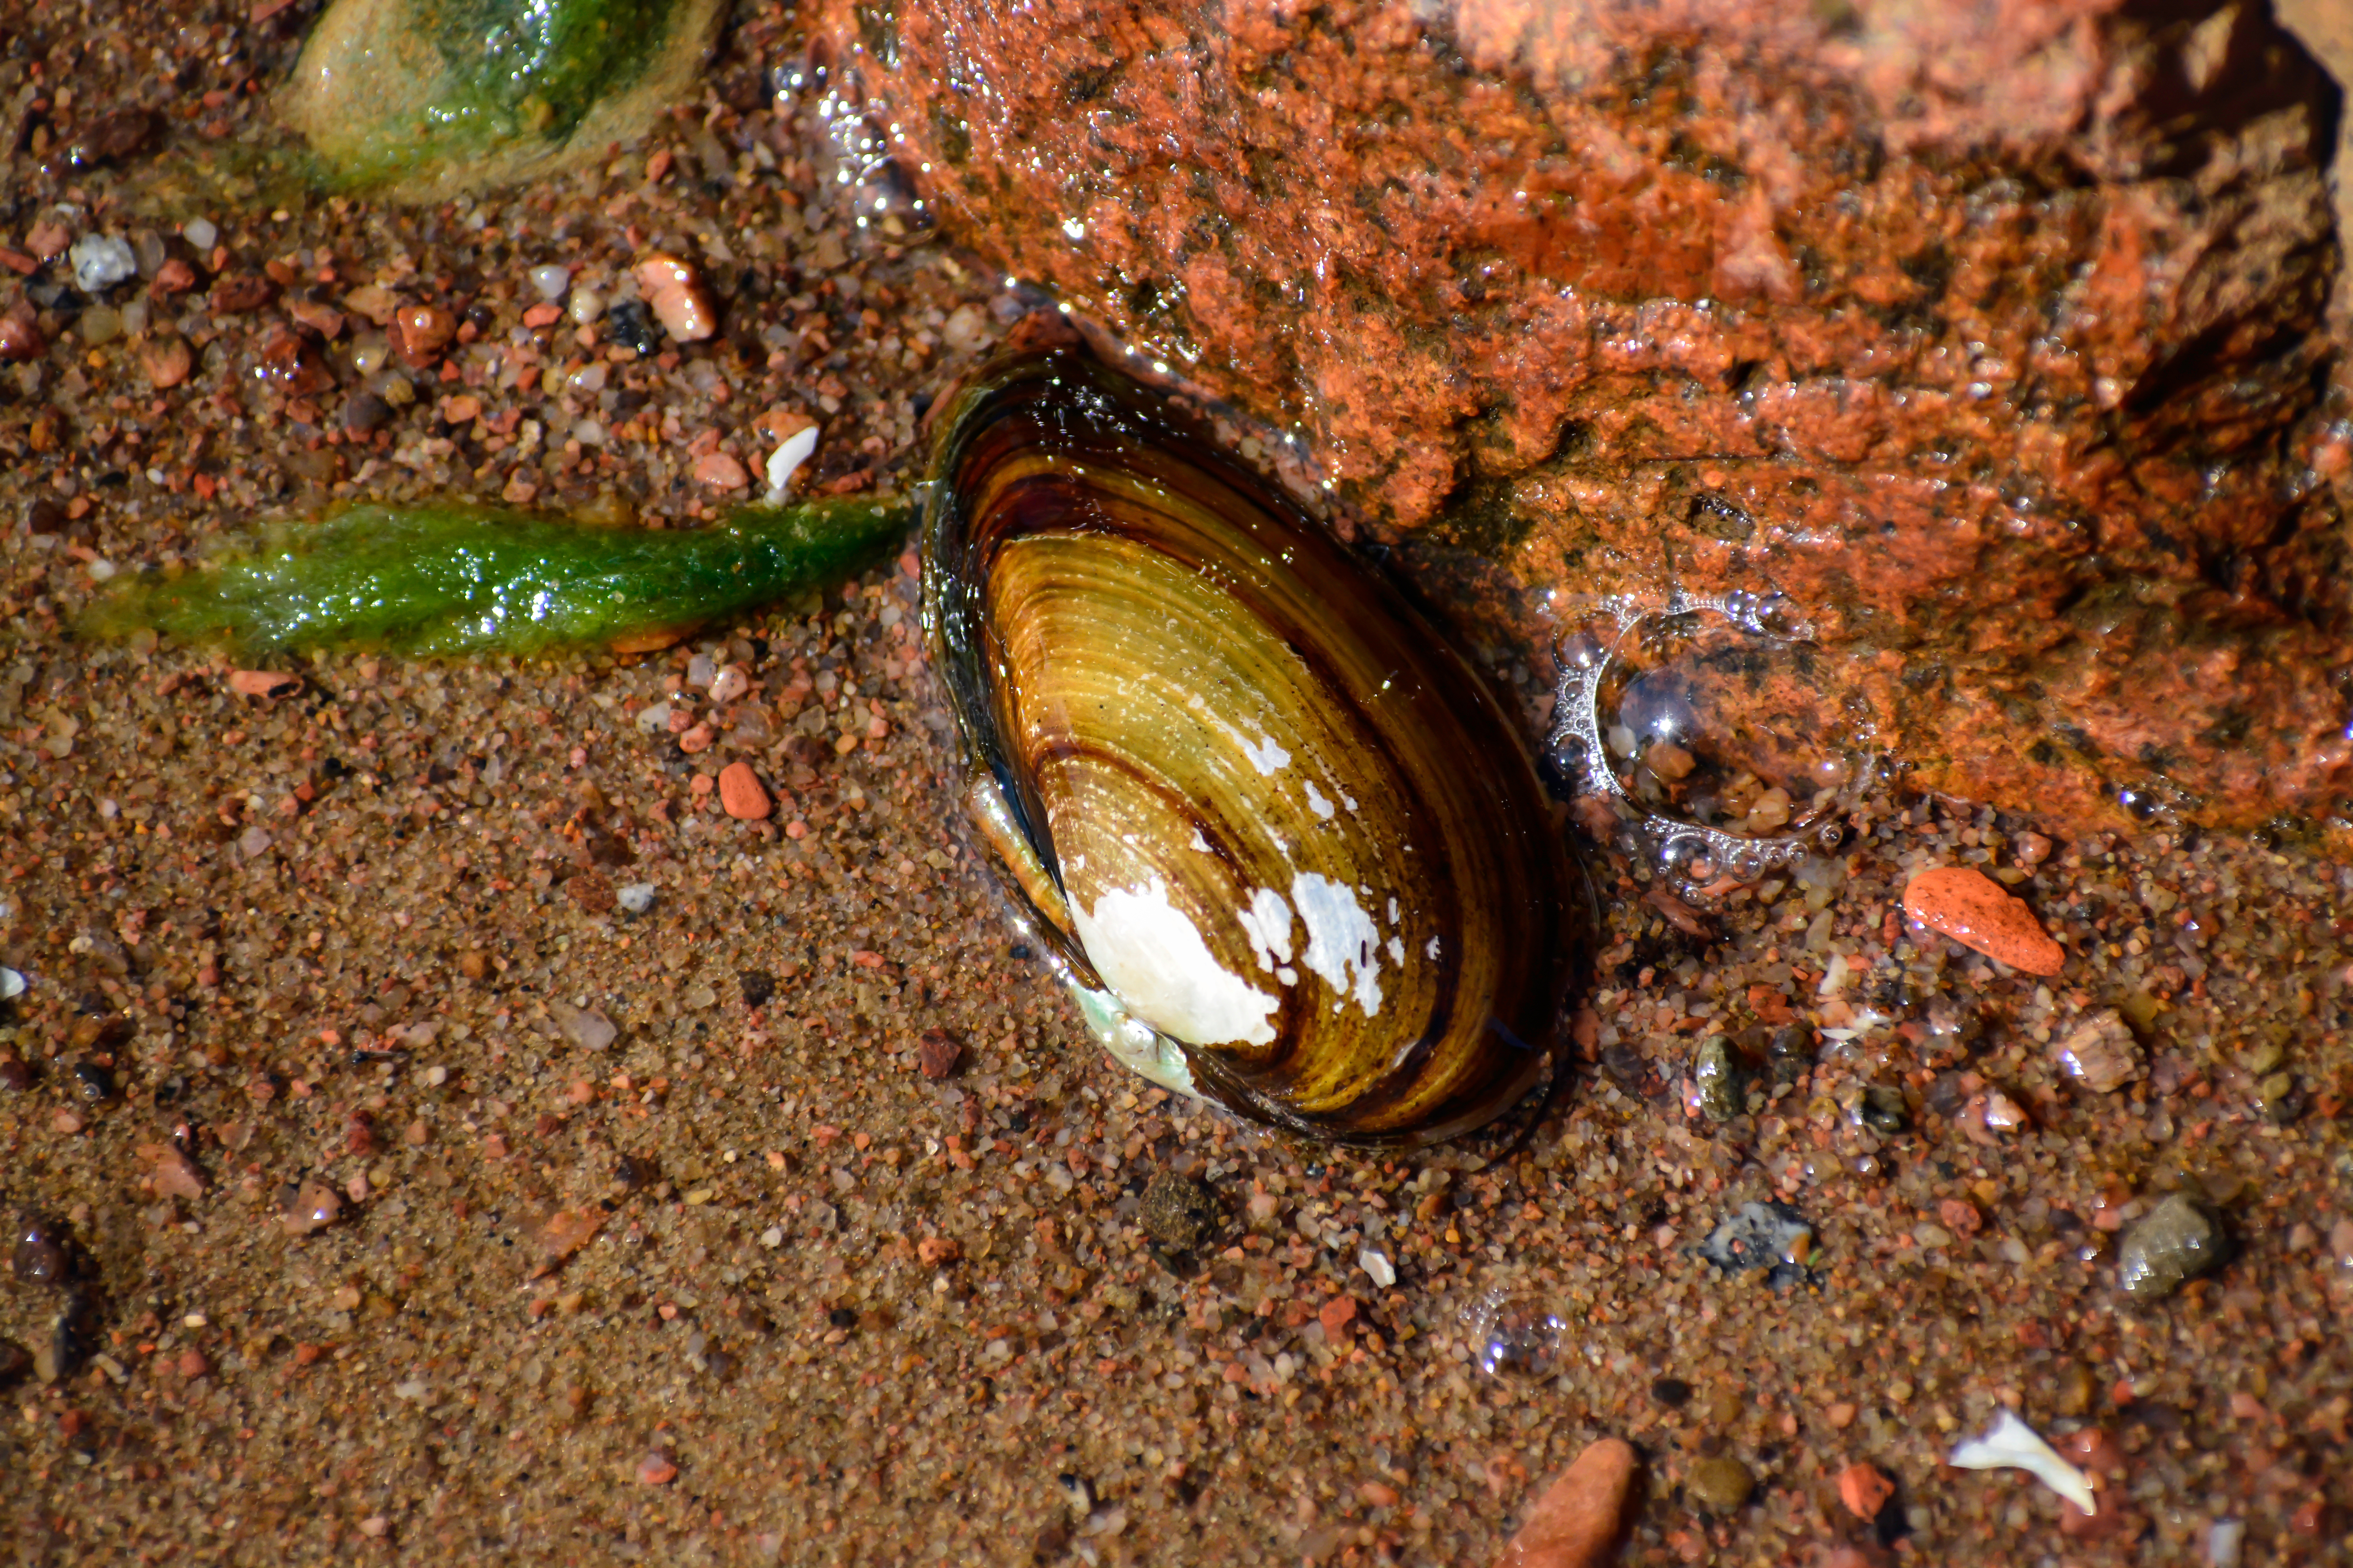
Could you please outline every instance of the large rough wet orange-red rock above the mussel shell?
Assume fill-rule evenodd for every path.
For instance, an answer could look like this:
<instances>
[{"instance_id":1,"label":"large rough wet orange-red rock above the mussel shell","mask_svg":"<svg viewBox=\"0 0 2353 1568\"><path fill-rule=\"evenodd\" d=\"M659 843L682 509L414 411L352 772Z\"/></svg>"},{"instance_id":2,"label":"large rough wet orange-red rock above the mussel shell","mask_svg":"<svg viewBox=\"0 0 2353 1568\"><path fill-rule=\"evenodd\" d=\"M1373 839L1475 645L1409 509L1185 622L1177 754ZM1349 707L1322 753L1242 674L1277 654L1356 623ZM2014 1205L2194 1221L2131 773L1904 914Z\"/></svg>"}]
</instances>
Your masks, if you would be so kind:
<instances>
[{"instance_id":1,"label":"large rough wet orange-red rock above the mussel shell","mask_svg":"<svg viewBox=\"0 0 2353 1568\"><path fill-rule=\"evenodd\" d=\"M960 237L1497 644L1779 590L1929 788L2353 792L2339 92L2264 5L838 0L819 47Z\"/></svg>"}]
</instances>

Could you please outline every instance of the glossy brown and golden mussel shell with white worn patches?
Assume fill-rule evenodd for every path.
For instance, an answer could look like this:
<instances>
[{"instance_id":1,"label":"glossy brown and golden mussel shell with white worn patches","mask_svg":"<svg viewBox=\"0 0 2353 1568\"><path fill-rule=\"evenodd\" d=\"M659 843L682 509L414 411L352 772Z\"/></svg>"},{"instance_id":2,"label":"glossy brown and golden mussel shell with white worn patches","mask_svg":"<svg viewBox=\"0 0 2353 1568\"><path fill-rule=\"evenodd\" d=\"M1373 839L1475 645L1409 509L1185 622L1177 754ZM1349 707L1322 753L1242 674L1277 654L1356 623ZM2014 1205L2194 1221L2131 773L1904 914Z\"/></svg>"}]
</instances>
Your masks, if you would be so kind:
<instances>
[{"instance_id":1,"label":"glossy brown and golden mussel shell with white worn patches","mask_svg":"<svg viewBox=\"0 0 2353 1568\"><path fill-rule=\"evenodd\" d=\"M1078 350L944 421L925 614L1009 893L1193 1086L1341 1143L1489 1121L1581 929L1527 750L1377 571ZM993 790L991 790L993 785Z\"/></svg>"}]
</instances>

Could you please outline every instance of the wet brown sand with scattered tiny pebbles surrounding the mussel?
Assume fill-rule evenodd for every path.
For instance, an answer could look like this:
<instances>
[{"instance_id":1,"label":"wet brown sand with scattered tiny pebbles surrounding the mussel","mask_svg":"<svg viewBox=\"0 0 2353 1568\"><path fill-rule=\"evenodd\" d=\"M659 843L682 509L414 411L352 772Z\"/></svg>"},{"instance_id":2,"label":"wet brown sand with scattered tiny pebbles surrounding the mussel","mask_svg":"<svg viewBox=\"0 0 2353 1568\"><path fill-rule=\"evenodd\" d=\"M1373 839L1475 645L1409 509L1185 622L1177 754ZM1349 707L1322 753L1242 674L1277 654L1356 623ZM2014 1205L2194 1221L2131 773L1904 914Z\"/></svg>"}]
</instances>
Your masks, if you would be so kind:
<instances>
[{"instance_id":1,"label":"wet brown sand with scattered tiny pebbles surrounding the mussel","mask_svg":"<svg viewBox=\"0 0 2353 1568\"><path fill-rule=\"evenodd\" d=\"M689 524L769 409L824 423L814 480L904 487L927 395L1016 303L824 205L833 165L758 92L776 16L654 141L424 212L153 195L249 134L306 14L174 21L0 21L0 103L73 92L0 244L151 230L158 259L104 301L115 336L52 294L45 355L0 367L0 961L28 978L0 1208L54 1244L0 1279L19 1561L1485 1563L1602 1434L1645 1458L1631 1563L2200 1563L2219 1521L2249 1563L2344 1554L2348 879L2294 846L2151 827L2026 867L2031 823L1882 795L1706 919L1588 846L1607 929L1555 1103L1518 1145L1358 1157L1089 1044L953 830L906 564L664 654L275 661L278 696L73 642L94 578L336 498ZM73 42L108 35L136 59ZM66 167L129 101L169 136ZM153 299L179 244L198 287ZM713 280L718 339L525 327L529 268L609 296L652 249ZM12 270L0 308L61 280ZM456 336L369 381L365 284ZM701 701L699 654L751 691ZM718 804L736 759L765 823ZM1911 872L1969 863L2024 872L2061 976L1904 924ZM2054 1051L2104 1009L2144 1065L2108 1093ZM1729 1119L1692 1088L1711 1037L1753 1067ZM2127 1298L2120 1237L2169 1194L2235 1258ZM1798 1260L1701 1258L1753 1201L1802 1215ZM1941 1465L1998 1406L2089 1455L2089 1533ZM1857 1462L1894 1483L1875 1521Z\"/></svg>"}]
</instances>

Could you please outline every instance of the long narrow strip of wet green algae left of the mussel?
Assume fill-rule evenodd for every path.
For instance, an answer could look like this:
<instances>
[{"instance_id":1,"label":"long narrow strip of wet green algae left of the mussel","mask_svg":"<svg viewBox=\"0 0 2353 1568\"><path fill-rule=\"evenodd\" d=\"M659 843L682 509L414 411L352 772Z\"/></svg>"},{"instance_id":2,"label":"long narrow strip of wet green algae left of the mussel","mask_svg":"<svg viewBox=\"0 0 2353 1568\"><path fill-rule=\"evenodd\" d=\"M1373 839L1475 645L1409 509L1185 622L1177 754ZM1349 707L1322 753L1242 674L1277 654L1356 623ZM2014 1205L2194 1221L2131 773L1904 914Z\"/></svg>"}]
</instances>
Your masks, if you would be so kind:
<instances>
[{"instance_id":1,"label":"long narrow strip of wet green algae left of the mussel","mask_svg":"<svg viewBox=\"0 0 2353 1568\"><path fill-rule=\"evenodd\" d=\"M692 531L464 503L358 505L207 567L120 578L87 630L148 628L245 654L659 646L838 583L896 548L911 524L906 503L864 498L751 505Z\"/></svg>"}]
</instances>

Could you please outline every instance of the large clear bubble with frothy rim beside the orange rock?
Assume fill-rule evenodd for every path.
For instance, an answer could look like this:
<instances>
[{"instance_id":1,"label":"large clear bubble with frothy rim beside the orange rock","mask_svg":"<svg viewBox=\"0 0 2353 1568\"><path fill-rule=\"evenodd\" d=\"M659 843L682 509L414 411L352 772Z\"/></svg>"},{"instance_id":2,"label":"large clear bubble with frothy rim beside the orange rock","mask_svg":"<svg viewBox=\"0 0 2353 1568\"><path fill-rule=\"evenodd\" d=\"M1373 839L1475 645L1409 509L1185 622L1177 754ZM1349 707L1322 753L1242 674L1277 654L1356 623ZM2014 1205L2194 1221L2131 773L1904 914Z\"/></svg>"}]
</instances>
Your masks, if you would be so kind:
<instances>
[{"instance_id":1,"label":"large clear bubble with frothy rim beside the orange rock","mask_svg":"<svg viewBox=\"0 0 2353 1568\"><path fill-rule=\"evenodd\" d=\"M1868 722L1784 595L1605 602L1555 651L1548 762L1612 799L1689 903L1835 846L1878 778Z\"/></svg>"}]
</instances>

